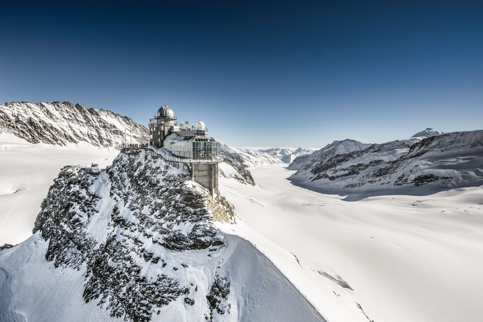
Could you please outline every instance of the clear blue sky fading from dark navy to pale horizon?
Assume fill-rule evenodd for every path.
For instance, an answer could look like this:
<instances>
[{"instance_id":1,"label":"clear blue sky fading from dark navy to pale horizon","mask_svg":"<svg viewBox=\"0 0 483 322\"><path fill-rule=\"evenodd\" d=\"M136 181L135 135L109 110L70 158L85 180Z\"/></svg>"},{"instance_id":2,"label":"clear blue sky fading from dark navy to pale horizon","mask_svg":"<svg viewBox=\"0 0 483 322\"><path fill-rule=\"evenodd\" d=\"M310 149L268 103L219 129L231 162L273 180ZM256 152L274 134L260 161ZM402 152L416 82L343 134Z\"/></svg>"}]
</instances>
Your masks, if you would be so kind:
<instances>
[{"instance_id":1,"label":"clear blue sky fading from dark navy to pale horizon","mask_svg":"<svg viewBox=\"0 0 483 322\"><path fill-rule=\"evenodd\" d=\"M3 2L0 101L146 124L163 104L234 146L483 128L483 2Z\"/></svg>"}]
</instances>

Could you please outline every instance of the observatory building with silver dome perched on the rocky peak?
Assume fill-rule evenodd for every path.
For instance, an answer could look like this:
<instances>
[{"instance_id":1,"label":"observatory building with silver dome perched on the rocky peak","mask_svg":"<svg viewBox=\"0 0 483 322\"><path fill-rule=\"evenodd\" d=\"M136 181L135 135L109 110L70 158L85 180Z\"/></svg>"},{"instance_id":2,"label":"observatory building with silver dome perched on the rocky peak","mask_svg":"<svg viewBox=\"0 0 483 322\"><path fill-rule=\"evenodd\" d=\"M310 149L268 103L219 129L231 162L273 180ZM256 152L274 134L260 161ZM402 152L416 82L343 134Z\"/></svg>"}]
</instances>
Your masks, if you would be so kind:
<instances>
[{"instance_id":1,"label":"observatory building with silver dome perched on the rocky peak","mask_svg":"<svg viewBox=\"0 0 483 322\"><path fill-rule=\"evenodd\" d=\"M174 111L161 106L149 121L149 144L169 151L169 162L186 166L193 181L212 195L218 193L218 142L208 136L208 128L201 121L175 121Z\"/></svg>"}]
</instances>

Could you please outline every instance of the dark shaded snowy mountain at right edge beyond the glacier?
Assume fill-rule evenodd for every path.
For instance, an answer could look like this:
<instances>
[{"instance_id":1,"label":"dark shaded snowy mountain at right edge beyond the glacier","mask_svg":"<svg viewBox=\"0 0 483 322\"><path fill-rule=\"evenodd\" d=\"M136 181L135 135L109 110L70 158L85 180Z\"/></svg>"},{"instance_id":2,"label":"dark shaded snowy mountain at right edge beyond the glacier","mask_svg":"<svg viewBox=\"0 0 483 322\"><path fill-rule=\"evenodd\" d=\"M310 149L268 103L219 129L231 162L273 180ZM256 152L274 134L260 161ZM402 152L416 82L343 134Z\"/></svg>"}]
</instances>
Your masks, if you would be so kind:
<instances>
[{"instance_id":1,"label":"dark shaded snowy mountain at right edge beyond the glacier","mask_svg":"<svg viewBox=\"0 0 483 322\"><path fill-rule=\"evenodd\" d=\"M307 164L290 178L321 192L363 197L424 195L483 184L483 131L426 129L396 140Z\"/></svg>"}]
</instances>

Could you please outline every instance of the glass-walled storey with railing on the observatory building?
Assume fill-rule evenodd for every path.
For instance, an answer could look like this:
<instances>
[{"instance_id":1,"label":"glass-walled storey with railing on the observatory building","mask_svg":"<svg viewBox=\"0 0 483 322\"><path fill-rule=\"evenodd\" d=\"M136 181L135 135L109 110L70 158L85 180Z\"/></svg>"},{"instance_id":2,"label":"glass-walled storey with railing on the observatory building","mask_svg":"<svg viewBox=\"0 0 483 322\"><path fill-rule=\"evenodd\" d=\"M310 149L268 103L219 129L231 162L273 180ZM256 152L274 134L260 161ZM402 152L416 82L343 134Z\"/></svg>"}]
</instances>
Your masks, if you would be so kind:
<instances>
[{"instance_id":1,"label":"glass-walled storey with railing on the observatory building","mask_svg":"<svg viewBox=\"0 0 483 322\"><path fill-rule=\"evenodd\" d=\"M218 142L210 138L165 141L164 147L176 156L189 159L211 159L218 156Z\"/></svg>"}]
</instances>

